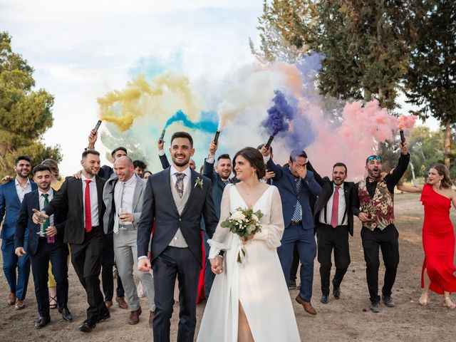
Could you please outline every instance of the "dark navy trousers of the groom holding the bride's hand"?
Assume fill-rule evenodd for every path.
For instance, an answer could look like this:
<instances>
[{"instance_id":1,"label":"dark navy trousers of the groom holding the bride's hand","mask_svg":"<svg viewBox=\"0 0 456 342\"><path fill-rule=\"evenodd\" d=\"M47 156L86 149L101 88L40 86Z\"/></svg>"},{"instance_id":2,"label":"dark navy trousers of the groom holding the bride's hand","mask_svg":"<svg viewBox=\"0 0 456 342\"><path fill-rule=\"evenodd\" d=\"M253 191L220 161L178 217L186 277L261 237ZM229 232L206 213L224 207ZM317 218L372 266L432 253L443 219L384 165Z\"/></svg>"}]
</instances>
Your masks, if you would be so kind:
<instances>
[{"instance_id":1,"label":"dark navy trousers of the groom holding the bride's hand","mask_svg":"<svg viewBox=\"0 0 456 342\"><path fill-rule=\"evenodd\" d=\"M155 342L170 341L176 276L179 281L177 342L193 342L197 323L197 292L201 264L189 248L167 247L152 263L155 288Z\"/></svg>"}]
</instances>

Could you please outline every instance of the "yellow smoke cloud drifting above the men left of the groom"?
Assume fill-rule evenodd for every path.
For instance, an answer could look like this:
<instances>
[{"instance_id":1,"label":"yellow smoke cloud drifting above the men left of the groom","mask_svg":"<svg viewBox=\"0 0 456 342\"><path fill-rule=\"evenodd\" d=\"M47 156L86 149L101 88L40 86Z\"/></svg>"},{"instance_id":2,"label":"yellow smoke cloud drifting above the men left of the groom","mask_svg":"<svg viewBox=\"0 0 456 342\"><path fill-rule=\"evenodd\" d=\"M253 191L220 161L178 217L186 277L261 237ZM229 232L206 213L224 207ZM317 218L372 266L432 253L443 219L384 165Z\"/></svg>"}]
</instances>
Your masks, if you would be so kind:
<instances>
[{"instance_id":1,"label":"yellow smoke cloud drifting above the men left of the groom","mask_svg":"<svg viewBox=\"0 0 456 342\"><path fill-rule=\"evenodd\" d=\"M177 110L195 119L202 108L202 101L190 90L188 78L175 73L164 73L150 83L145 75L139 75L125 89L110 91L97 102L100 119L115 123L121 132L128 130L136 118L147 116L157 125L164 125Z\"/></svg>"}]
</instances>

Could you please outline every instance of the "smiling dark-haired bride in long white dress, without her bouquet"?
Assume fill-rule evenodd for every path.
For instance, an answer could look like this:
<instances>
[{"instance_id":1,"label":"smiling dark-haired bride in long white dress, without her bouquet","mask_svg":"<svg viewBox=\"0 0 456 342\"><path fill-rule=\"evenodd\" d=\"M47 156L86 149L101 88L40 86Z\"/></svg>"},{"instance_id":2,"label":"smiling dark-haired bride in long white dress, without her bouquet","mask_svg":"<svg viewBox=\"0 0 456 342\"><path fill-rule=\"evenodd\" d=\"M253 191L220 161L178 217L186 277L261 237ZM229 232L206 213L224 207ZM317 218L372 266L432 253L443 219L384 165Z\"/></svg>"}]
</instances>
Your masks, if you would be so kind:
<instances>
[{"instance_id":1,"label":"smiling dark-haired bride in long white dress, without her bouquet","mask_svg":"<svg viewBox=\"0 0 456 342\"><path fill-rule=\"evenodd\" d=\"M227 185L220 222L239 207L261 210L261 232L244 240L219 225L208 243L212 271L217 274L202 317L197 341L298 342L299 331L277 247L284 232L279 190L261 183L263 156L245 147L233 159L237 185ZM242 263L237 254L244 244ZM219 256L226 251L224 261Z\"/></svg>"}]
</instances>

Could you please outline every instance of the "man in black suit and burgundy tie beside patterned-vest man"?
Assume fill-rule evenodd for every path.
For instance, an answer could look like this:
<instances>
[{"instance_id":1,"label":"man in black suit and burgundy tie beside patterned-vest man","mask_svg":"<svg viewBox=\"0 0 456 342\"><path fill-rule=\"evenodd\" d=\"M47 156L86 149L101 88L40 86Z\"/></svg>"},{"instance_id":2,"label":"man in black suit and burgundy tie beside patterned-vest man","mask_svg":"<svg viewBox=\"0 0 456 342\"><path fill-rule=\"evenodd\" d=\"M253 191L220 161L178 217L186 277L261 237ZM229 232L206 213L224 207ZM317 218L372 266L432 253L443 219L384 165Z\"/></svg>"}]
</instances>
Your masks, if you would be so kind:
<instances>
[{"instance_id":1,"label":"man in black suit and burgundy tie beside patterned-vest man","mask_svg":"<svg viewBox=\"0 0 456 342\"><path fill-rule=\"evenodd\" d=\"M355 185L346 182L347 167L342 162L333 166L332 180L322 178L308 162L315 180L321 185L321 195L315 203L314 219L317 237L318 262L320 263L321 303L329 301L329 279L331 254L334 250L336 273L333 277L333 296L341 296L341 282L350 264L348 233L353 236L353 213L351 212L351 190Z\"/></svg>"}]
</instances>

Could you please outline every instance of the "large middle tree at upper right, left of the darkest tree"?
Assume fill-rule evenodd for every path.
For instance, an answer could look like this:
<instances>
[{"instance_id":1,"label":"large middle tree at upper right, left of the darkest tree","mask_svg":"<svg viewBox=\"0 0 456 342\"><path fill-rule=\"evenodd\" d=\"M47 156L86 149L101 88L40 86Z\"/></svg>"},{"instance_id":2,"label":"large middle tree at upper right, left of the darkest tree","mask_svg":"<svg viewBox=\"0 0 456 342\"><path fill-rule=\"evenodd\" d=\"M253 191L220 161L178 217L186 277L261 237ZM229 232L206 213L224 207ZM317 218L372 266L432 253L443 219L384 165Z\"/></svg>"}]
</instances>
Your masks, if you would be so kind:
<instances>
[{"instance_id":1,"label":"large middle tree at upper right, left of the darkest tree","mask_svg":"<svg viewBox=\"0 0 456 342\"><path fill-rule=\"evenodd\" d=\"M344 100L395 102L408 67L412 1L320 1L318 76L322 93Z\"/></svg>"}]
</instances>

